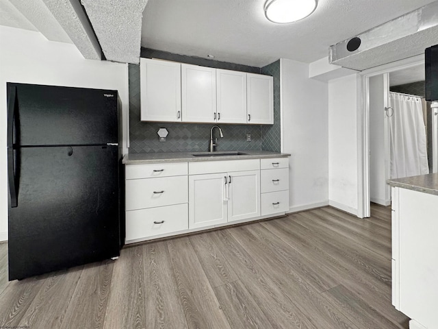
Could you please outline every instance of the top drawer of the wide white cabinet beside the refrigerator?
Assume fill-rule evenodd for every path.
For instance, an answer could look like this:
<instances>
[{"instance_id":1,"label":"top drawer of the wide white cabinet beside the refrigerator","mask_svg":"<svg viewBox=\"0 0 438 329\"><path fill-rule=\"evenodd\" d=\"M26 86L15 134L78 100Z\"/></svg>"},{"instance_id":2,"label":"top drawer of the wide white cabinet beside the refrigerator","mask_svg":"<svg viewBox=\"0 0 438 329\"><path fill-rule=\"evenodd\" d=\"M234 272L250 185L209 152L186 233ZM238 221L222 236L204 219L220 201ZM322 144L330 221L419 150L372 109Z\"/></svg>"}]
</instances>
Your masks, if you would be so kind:
<instances>
[{"instance_id":1,"label":"top drawer of the wide white cabinet beside the refrigerator","mask_svg":"<svg viewBox=\"0 0 438 329\"><path fill-rule=\"evenodd\" d=\"M127 164L126 179L156 178L188 174L188 162Z\"/></svg>"}]
</instances>

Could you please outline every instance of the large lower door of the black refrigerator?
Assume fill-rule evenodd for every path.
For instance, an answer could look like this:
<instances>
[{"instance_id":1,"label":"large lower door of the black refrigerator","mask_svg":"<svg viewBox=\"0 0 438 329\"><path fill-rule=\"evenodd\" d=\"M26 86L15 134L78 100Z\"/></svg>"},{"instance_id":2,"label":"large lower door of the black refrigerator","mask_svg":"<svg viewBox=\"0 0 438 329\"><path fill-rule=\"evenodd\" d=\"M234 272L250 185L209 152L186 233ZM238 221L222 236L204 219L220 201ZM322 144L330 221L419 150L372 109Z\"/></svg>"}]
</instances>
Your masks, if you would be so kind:
<instances>
[{"instance_id":1,"label":"large lower door of the black refrigerator","mask_svg":"<svg viewBox=\"0 0 438 329\"><path fill-rule=\"evenodd\" d=\"M9 279L119 255L118 147L14 150Z\"/></svg>"}]
</instances>

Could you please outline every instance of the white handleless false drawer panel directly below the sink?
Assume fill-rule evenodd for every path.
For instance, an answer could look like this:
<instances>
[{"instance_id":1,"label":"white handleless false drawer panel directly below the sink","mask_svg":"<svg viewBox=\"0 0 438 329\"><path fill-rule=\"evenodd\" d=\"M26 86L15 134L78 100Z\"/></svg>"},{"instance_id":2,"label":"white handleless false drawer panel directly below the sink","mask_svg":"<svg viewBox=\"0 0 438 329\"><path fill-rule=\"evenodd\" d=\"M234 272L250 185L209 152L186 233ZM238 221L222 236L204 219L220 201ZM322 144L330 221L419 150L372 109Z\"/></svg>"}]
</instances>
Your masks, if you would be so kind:
<instances>
[{"instance_id":1,"label":"white handleless false drawer panel directly below the sink","mask_svg":"<svg viewBox=\"0 0 438 329\"><path fill-rule=\"evenodd\" d=\"M259 159L189 162L189 175L259 169Z\"/></svg>"}]
</instances>

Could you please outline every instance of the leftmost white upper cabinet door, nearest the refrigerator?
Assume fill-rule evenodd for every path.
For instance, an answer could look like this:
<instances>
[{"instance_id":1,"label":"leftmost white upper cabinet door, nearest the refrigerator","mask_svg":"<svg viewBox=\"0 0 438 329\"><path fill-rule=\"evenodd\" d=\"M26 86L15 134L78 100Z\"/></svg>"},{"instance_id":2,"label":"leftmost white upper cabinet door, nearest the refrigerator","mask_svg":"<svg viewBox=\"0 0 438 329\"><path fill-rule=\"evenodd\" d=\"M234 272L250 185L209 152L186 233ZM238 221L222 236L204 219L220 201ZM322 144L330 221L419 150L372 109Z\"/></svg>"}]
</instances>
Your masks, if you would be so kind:
<instances>
[{"instance_id":1,"label":"leftmost white upper cabinet door, nearest the refrigerator","mask_svg":"<svg viewBox=\"0 0 438 329\"><path fill-rule=\"evenodd\" d=\"M141 121L181 121L181 63L140 58Z\"/></svg>"}]
</instances>

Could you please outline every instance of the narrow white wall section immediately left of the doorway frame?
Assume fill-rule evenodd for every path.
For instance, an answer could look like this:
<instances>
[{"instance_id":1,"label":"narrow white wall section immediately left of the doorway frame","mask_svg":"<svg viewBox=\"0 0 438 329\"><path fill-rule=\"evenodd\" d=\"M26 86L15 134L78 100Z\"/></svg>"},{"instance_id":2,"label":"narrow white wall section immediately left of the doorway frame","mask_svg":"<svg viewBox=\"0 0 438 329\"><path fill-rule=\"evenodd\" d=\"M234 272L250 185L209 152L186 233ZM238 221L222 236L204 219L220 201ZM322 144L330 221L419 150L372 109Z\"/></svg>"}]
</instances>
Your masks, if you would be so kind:
<instances>
[{"instance_id":1,"label":"narrow white wall section immediately left of the doorway frame","mask_svg":"<svg viewBox=\"0 0 438 329\"><path fill-rule=\"evenodd\" d=\"M358 214L357 74L329 81L329 204Z\"/></svg>"}]
</instances>

